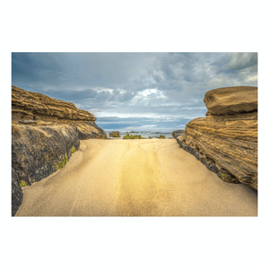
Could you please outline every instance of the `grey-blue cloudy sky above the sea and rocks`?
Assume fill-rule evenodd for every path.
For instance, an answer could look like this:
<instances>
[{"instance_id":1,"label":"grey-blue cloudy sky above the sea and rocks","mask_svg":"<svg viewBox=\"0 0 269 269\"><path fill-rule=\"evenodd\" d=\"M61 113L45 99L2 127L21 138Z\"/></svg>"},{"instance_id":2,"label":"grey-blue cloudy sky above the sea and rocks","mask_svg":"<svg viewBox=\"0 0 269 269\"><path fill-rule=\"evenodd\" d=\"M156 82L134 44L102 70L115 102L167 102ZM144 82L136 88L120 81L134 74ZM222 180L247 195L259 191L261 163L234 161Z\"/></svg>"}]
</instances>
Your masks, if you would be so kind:
<instances>
[{"instance_id":1,"label":"grey-blue cloudy sky above the sea and rocks","mask_svg":"<svg viewBox=\"0 0 269 269\"><path fill-rule=\"evenodd\" d=\"M13 53L12 84L88 110L104 130L172 131L204 93L257 86L257 53Z\"/></svg>"}]
</instances>

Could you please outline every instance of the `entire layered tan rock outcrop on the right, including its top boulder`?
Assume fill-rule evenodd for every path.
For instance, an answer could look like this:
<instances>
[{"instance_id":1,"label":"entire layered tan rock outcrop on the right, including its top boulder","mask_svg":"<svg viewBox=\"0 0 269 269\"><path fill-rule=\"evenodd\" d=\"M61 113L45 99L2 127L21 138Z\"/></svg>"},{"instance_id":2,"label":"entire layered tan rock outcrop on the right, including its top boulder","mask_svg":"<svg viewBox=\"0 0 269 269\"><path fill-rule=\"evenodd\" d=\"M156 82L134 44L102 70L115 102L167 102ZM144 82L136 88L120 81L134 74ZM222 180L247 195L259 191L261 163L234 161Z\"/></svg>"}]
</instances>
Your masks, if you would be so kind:
<instances>
[{"instance_id":1,"label":"entire layered tan rock outcrop on the right, including its top boulder","mask_svg":"<svg viewBox=\"0 0 269 269\"><path fill-rule=\"evenodd\" d=\"M222 180L257 190L257 88L207 91L204 103L206 117L187 124L180 148Z\"/></svg>"}]
</instances>

